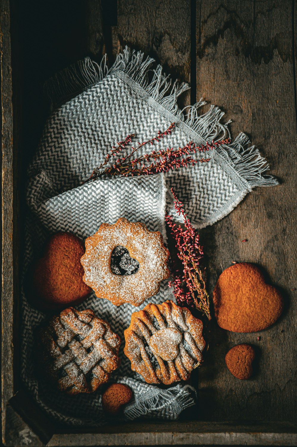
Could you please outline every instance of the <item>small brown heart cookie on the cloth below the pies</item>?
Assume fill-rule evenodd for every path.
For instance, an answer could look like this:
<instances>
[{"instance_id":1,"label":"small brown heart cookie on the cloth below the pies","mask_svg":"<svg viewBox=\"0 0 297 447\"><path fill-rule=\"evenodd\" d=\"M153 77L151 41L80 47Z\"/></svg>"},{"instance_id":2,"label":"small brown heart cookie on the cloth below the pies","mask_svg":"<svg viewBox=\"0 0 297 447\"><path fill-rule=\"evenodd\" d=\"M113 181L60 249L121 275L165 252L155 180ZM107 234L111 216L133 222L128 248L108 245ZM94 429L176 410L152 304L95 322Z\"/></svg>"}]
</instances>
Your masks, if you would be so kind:
<instances>
[{"instance_id":1,"label":"small brown heart cookie on the cloth below the pies","mask_svg":"<svg viewBox=\"0 0 297 447\"><path fill-rule=\"evenodd\" d=\"M117 414L131 399L132 390L128 385L112 384L102 394L102 408L109 414Z\"/></svg>"}]
</instances>

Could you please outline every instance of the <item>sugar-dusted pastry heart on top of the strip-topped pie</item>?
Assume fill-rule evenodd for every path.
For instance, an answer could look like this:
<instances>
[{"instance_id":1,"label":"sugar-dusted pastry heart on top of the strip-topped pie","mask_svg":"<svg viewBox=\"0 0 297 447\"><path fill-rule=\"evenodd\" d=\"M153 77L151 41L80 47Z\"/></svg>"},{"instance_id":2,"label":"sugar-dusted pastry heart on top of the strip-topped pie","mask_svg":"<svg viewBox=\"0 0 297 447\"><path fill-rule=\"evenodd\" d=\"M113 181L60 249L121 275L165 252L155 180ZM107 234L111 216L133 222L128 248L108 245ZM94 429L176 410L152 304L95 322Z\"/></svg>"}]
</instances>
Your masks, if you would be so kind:
<instances>
[{"instance_id":1,"label":"sugar-dusted pastry heart on top of the strip-topped pie","mask_svg":"<svg viewBox=\"0 0 297 447\"><path fill-rule=\"evenodd\" d=\"M163 360L174 360L179 353L178 345L182 338L177 329L163 328L151 336L149 345Z\"/></svg>"}]
</instances>

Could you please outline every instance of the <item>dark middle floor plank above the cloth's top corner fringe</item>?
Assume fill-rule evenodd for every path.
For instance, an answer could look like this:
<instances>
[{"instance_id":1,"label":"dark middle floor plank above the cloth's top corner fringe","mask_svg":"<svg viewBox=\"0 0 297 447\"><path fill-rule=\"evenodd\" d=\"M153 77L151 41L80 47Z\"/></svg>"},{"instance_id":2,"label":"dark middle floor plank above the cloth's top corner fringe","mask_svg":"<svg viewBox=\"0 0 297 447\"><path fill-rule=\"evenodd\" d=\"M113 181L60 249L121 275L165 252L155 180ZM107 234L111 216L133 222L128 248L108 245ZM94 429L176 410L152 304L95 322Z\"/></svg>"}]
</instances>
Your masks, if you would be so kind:
<instances>
[{"instance_id":1,"label":"dark middle floor plank above the cloth's top corner fringe","mask_svg":"<svg viewBox=\"0 0 297 447\"><path fill-rule=\"evenodd\" d=\"M142 50L161 63L165 72L170 73L173 79L189 82L190 3L190 0L118 0L118 48L128 45ZM189 102L190 93L187 92L182 103Z\"/></svg>"}]
</instances>

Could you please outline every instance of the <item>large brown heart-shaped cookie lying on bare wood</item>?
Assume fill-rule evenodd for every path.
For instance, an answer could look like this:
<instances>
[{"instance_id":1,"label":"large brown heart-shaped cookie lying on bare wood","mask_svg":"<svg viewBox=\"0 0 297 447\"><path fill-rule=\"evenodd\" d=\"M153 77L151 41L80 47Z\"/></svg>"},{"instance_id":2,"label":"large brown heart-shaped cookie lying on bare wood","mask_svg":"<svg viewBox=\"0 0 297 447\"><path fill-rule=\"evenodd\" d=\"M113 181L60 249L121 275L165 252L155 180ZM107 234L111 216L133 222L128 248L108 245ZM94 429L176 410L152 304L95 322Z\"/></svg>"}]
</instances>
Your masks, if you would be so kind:
<instances>
[{"instance_id":1,"label":"large brown heart-shaped cookie lying on bare wood","mask_svg":"<svg viewBox=\"0 0 297 447\"><path fill-rule=\"evenodd\" d=\"M224 270L213 291L218 325L232 332L257 332L279 318L284 301L275 287L265 283L258 267L238 263Z\"/></svg>"}]
</instances>

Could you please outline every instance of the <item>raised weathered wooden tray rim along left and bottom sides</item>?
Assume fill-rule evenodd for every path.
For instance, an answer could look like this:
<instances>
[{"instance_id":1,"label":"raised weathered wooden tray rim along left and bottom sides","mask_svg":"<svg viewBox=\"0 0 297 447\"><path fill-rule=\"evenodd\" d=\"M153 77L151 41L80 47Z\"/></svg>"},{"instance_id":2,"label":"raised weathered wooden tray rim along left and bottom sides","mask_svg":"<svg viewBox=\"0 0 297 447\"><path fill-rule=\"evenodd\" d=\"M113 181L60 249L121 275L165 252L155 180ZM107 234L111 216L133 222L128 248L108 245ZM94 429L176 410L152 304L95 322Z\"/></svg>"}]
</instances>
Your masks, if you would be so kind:
<instances>
[{"instance_id":1,"label":"raised weathered wooden tray rim along left and bottom sides","mask_svg":"<svg viewBox=\"0 0 297 447\"><path fill-rule=\"evenodd\" d=\"M8 446L99 445L296 445L291 422L133 422L92 433L57 430L31 401L17 380L18 271L17 132L13 115L13 80L9 0L0 2L2 108L2 439ZM111 24L112 25L112 24ZM110 47L112 48L113 26ZM108 44L106 44L108 46Z\"/></svg>"}]
</instances>

